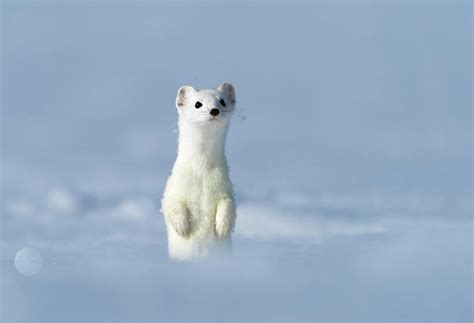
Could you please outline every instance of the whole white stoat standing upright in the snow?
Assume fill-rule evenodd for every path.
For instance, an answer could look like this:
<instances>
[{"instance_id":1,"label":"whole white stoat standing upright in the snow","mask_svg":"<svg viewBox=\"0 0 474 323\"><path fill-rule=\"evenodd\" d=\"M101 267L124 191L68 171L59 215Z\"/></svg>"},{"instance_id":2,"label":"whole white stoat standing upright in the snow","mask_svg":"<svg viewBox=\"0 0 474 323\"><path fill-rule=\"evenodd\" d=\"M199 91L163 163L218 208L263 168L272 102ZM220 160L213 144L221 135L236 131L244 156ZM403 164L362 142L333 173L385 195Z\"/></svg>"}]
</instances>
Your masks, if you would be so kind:
<instances>
[{"instance_id":1,"label":"whole white stoat standing upright in the snow","mask_svg":"<svg viewBox=\"0 0 474 323\"><path fill-rule=\"evenodd\" d=\"M232 247L235 202L224 154L235 107L232 85L178 91L178 157L162 200L171 258L191 260Z\"/></svg>"}]
</instances>

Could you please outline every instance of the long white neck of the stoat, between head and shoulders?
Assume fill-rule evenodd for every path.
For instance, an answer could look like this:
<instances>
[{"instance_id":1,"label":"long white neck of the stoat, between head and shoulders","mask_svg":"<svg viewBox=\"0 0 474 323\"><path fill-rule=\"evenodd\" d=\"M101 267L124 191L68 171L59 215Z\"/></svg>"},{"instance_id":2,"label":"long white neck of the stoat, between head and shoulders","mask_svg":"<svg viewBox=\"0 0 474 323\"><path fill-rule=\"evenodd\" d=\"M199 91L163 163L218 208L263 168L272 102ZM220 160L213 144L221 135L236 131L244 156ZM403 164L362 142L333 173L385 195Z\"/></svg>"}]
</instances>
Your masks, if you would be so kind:
<instances>
[{"instance_id":1,"label":"long white neck of the stoat, between head and shoulders","mask_svg":"<svg viewBox=\"0 0 474 323\"><path fill-rule=\"evenodd\" d=\"M203 125L198 127L181 120L181 118L178 124L177 162L198 159L211 167L226 165L224 150L227 126L209 125L206 127Z\"/></svg>"}]
</instances>

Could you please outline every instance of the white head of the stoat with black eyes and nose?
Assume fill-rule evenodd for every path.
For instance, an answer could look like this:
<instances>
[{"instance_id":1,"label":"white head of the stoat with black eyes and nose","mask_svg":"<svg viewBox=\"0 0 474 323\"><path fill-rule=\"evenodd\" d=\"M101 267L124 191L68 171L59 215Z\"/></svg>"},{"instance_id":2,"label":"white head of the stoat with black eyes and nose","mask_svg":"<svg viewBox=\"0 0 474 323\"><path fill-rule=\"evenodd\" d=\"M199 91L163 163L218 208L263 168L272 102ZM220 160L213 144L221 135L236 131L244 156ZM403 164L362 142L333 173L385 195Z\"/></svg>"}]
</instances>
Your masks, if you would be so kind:
<instances>
[{"instance_id":1,"label":"white head of the stoat with black eyes and nose","mask_svg":"<svg viewBox=\"0 0 474 323\"><path fill-rule=\"evenodd\" d=\"M235 108L232 84L223 83L217 89L195 90L182 86L176 97L180 118L202 127L220 127L229 123Z\"/></svg>"}]
</instances>

